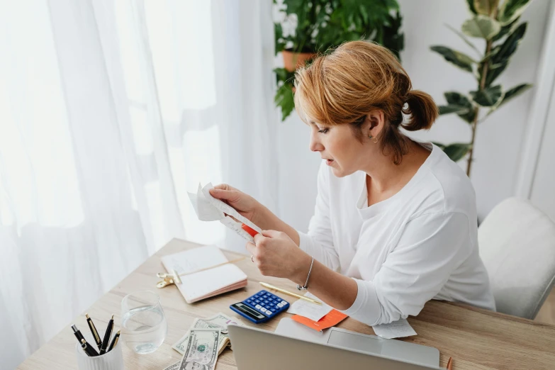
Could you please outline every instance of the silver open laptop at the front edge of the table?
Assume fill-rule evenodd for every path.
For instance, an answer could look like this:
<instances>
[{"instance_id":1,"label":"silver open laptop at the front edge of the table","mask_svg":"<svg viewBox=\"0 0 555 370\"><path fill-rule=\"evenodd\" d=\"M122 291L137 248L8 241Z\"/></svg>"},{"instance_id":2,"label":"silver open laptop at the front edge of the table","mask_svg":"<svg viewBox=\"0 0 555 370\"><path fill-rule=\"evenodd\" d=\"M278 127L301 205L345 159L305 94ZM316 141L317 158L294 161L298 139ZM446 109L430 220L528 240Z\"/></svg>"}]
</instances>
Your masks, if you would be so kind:
<instances>
[{"instance_id":1,"label":"silver open laptop at the front edge of the table","mask_svg":"<svg viewBox=\"0 0 555 370\"><path fill-rule=\"evenodd\" d=\"M291 319L286 318L283 320ZM293 323L295 322L293 321ZM324 343L322 341L305 340L301 339L301 337L292 337L253 327L228 325L233 354L235 355L237 368L240 370L440 369L438 366L439 351L435 348L398 340L382 340L379 337L375 339L373 338L374 336L360 335L335 327L332 329L327 330L329 335L325 334L327 339ZM293 333L293 335L295 334ZM355 335L355 337L351 335ZM366 344L369 345L361 347L359 343L365 342L366 337L371 337L369 340L376 342L367 342ZM403 352L403 348L400 347L397 349L401 352L391 353L390 350L393 347L390 347L384 353L381 350L383 349L384 342L407 344L412 349L412 355L407 357L405 352ZM355 348L346 347L352 344L355 345ZM387 344L386 347L388 346ZM423 347L423 349L420 347ZM361 350L360 348L370 350ZM417 361L414 361L415 359Z\"/></svg>"}]
</instances>

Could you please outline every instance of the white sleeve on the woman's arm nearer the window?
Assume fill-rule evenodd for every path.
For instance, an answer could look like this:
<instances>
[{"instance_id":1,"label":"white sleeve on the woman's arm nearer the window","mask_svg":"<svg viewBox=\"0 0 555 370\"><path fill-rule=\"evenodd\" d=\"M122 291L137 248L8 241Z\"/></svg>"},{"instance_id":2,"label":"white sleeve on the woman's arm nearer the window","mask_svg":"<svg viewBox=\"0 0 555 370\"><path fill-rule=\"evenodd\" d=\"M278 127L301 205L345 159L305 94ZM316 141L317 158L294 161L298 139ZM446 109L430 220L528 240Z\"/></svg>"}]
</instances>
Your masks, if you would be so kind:
<instances>
[{"instance_id":1,"label":"white sleeve on the woman's arm nearer the window","mask_svg":"<svg viewBox=\"0 0 555 370\"><path fill-rule=\"evenodd\" d=\"M308 233L298 231L301 250L313 256L319 262L333 270L340 266L337 250L333 245L333 235L330 225L330 192L327 176L329 172L325 164L318 172L318 196L314 215L310 218Z\"/></svg>"}]
</instances>

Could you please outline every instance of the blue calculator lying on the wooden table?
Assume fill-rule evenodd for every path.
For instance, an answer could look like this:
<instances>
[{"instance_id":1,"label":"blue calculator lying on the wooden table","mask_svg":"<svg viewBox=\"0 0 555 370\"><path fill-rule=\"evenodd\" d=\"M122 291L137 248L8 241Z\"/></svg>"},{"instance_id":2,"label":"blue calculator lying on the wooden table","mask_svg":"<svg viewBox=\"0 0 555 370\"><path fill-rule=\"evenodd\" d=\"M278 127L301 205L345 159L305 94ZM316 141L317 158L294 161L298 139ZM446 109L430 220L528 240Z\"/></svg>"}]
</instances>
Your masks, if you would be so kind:
<instances>
[{"instance_id":1,"label":"blue calculator lying on the wooden table","mask_svg":"<svg viewBox=\"0 0 555 370\"><path fill-rule=\"evenodd\" d=\"M289 308L289 303L267 291L259 291L245 301L230 305L230 308L255 324L265 323Z\"/></svg>"}]
</instances>

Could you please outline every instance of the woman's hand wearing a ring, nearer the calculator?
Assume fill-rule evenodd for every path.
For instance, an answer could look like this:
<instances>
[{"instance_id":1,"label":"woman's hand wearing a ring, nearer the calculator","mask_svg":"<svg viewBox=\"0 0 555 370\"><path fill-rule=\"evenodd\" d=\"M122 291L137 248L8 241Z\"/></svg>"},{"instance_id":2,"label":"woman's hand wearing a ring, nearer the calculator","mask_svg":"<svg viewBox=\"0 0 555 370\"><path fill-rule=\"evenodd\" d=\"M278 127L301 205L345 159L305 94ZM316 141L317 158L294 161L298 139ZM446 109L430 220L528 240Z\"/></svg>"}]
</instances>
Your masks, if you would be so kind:
<instances>
[{"instance_id":1,"label":"woman's hand wearing a ring, nearer the calculator","mask_svg":"<svg viewBox=\"0 0 555 370\"><path fill-rule=\"evenodd\" d=\"M303 252L285 232L263 230L254 235L254 244L247 242L252 260L264 276L296 281L300 270L308 271L310 256ZM306 272L305 271L305 272Z\"/></svg>"}]
</instances>

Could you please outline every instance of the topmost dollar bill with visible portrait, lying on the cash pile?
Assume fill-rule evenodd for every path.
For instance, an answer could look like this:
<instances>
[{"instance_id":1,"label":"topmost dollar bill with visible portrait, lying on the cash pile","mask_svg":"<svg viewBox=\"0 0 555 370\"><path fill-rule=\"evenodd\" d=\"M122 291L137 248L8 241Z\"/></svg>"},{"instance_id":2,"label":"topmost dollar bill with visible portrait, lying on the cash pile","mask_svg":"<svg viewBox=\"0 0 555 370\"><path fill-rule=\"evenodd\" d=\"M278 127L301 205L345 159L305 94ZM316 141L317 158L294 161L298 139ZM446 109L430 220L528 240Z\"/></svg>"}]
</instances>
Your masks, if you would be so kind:
<instances>
[{"instance_id":1,"label":"topmost dollar bill with visible portrait, lying on the cash pile","mask_svg":"<svg viewBox=\"0 0 555 370\"><path fill-rule=\"evenodd\" d=\"M178 370L214 370L220 329L191 329Z\"/></svg>"}]
</instances>

